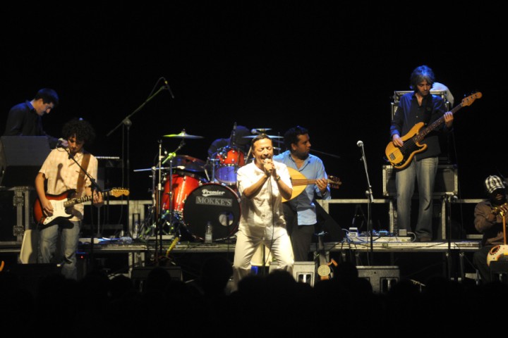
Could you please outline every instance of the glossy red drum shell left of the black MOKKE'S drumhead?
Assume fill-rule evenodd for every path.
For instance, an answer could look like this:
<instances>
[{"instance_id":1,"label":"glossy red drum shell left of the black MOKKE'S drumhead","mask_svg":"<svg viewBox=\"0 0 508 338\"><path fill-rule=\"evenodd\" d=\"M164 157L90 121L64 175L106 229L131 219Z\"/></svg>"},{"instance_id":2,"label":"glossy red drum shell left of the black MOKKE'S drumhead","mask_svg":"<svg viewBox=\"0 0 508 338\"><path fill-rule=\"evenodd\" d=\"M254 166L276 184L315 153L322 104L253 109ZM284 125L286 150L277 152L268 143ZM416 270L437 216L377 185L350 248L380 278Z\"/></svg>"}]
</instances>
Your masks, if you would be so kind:
<instances>
[{"instance_id":1,"label":"glossy red drum shell left of the black MOKKE'S drumhead","mask_svg":"<svg viewBox=\"0 0 508 338\"><path fill-rule=\"evenodd\" d=\"M162 195L162 210L169 210L170 203L170 184L169 174L164 178L164 194ZM205 180L195 174L176 172L173 174L172 188L173 188L173 211L181 213L183 205L186 202L188 194L199 187Z\"/></svg>"}]
</instances>

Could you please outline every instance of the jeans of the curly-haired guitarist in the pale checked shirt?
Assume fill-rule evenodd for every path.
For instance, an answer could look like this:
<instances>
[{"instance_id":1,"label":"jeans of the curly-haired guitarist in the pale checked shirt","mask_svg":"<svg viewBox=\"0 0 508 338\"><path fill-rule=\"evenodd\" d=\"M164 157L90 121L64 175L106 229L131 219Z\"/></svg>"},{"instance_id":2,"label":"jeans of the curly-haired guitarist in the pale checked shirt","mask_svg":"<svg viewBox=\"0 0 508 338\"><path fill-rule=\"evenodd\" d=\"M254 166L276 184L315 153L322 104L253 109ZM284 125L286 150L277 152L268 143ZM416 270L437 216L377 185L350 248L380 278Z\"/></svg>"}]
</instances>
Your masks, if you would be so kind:
<instances>
[{"instance_id":1,"label":"jeans of the curly-haired guitarist in the pale checked shirt","mask_svg":"<svg viewBox=\"0 0 508 338\"><path fill-rule=\"evenodd\" d=\"M78 279L76 267L76 251L78 250L80 221L71 221L71 226L52 225L40 231L39 263L61 263L62 274L67 278ZM60 235L60 245L57 240ZM60 248L61 258L55 257L56 249Z\"/></svg>"}]
</instances>

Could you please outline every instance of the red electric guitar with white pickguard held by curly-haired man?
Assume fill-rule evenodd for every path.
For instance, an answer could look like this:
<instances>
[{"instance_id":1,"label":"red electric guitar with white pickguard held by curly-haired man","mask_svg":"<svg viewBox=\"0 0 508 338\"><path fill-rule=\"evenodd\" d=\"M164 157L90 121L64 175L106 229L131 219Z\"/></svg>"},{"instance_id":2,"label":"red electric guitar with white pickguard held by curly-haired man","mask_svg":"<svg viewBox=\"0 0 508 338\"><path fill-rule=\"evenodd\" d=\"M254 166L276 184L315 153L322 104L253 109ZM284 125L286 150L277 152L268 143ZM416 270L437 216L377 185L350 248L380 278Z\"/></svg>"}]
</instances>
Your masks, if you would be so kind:
<instances>
[{"instance_id":1,"label":"red electric guitar with white pickguard held by curly-haired man","mask_svg":"<svg viewBox=\"0 0 508 338\"><path fill-rule=\"evenodd\" d=\"M92 196L83 196L78 199L68 199L69 196L75 193L75 190L68 190L59 195L47 194L46 198L49 199L53 206L53 215L46 215L42 210L42 204L40 199L36 199L33 208L33 215L35 222L39 229L44 229L54 224L66 222L73 215L67 213L67 208L74 206L75 204L84 203L91 201ZM102 196L107 197L109 195L119 197L128 196L128 189L124 188L113 188L107 192L102 192Z\"/></svg>"}]
</instances>

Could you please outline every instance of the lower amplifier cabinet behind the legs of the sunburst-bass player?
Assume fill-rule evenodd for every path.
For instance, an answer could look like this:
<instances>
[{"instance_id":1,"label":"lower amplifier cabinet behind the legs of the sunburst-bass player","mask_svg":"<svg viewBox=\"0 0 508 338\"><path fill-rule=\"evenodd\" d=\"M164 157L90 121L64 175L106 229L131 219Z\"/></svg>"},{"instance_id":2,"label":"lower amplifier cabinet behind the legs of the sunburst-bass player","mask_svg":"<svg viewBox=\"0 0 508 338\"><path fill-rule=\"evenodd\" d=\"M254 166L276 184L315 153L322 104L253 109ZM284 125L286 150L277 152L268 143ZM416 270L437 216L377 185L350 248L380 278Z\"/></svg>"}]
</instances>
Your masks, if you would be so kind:
<instances>
[{"instance_id":1,"label":"lower amplifier cabinet behind the legs of the sunburst-bass player","mask_svg":"<svg viewBox=\"0 0 508 338\"><path fill-rule=\"evenodd\" d=\"M395 186L396 171L392 165L383 165L383 196L397 196ZM445 194L458 194L458 176L458 170L455 165L437 165L433 196L439 198ZM418 192L418 186L415 189L415 194L416 192Z\"/></svg>"}]
</instances>

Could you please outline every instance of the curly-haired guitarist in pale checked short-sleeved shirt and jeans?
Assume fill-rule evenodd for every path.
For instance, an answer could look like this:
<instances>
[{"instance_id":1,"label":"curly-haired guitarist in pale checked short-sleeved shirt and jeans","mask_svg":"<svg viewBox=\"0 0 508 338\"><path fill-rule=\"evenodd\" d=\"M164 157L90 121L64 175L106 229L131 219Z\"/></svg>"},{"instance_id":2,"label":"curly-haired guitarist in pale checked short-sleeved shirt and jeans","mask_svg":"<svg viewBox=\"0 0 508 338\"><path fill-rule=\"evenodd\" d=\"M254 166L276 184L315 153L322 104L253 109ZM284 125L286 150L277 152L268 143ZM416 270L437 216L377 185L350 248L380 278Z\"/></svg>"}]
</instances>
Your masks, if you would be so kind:
<instances>
[{"instance_id":1,"label":"curly-haired guitarist in pale checked short-sleeved shirt and jeans","mask_svg":"<svg viewBox=\"0 0 508 338\"><path fill-rule=\"evenodd\" d=\"M63 125L62 135L68 142L65 148L53 149L35 177L35 190L39 196L40 208L46 216L55 212L49 196L75 191L75 197L91 196L92 182L85 175L97 177L97 158L87 153L83 146L95 138L92 125L82 119L74 119ZM79 165L78 165L79 163ZM47 184L47 190L44 190ZM102 193L94 191L92 203L102 206ZM62 218L56 224L40 230L39 263L62 263L62 274L68 279L76 280L75 253L78 249L81 221L85 207L76 204L68 211L72 218ZM60 239L61 257L56 256L57 240Z\"/></svg>"}]
</instances>

